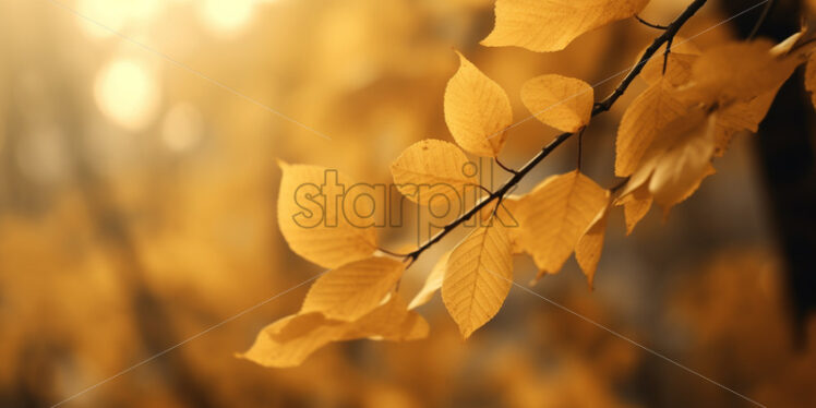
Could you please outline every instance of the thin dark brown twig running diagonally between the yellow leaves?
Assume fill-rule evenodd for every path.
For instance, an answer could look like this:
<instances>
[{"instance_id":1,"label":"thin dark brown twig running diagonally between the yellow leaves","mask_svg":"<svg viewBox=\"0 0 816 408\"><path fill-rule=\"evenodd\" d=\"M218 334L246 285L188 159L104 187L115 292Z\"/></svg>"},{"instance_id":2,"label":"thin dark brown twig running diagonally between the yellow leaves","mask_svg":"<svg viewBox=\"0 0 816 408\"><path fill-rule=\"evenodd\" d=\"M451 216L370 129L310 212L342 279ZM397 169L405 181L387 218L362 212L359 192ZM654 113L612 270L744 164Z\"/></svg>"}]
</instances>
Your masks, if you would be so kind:
<instances>
[{"instance_id":1,"label":"thin dark brown twig running diagonally between the yellow leaves","mask_svg":"<svg viewBox=\"0 0 816 408\"><path fill-rule=\"evenodd\" d=\"M643 71L644 65L646 62L648 62L655 53L660 49L660 47L663 44L669 43L671 39L674 38L674 36L677 35L677 32L680 28L691 19L704 4L706 4L707 0L694 0L688 7L681 13L674 21L669 24L660 36L655 38L652 40L649 48L646 49L644 55L640 57L640 60L637 61L637 63L632 67L632 71L629 71L626 76L621 81L621 84L617 85L615 91L610 94L607 98L601 100L600 103L596 104L592 108L592 117L596 117L598 115L601 115L605 111L608 111L610 108L612 108L612 105L617 101L617 99L626 92L626 89L629 87L632 82L637 77L637 75L640 74L640 71ZM507 180L499 190L490 194L489 196L484 197L482 201L480 201L478 204L476 204L472 208L470 208L467 213L463 214L455 220L453 220L451 224L446 225L442 228L440 232L437 232L435 236L433 236L431 239L429 239L425 243L423 243L421 247L419 247L417 250L409 253L406 257L410 259L411 262L416 261L419 255L422 254L425 250L431 248L433 244L445 238L451 231L456 229L459 225L469 220L473 217L473 215L478 214L482 208L484 208L488 204L493 202L494 200L501 200L504 197L507 192L509 192L511 189L513 189L515 185L521 181L521 179L527 176L527 173L530 172L541 160L543 160L547 156L552 153L556 147L559 147L562 143L564 143L567 139L569 139L574 133L562 133L559 136L556 136L552 142L547 144L544 147L541 148L541 151L532 157L527 164L521 167L519 170L517 170L513 177Z\"/></svg>"}]
</instances>

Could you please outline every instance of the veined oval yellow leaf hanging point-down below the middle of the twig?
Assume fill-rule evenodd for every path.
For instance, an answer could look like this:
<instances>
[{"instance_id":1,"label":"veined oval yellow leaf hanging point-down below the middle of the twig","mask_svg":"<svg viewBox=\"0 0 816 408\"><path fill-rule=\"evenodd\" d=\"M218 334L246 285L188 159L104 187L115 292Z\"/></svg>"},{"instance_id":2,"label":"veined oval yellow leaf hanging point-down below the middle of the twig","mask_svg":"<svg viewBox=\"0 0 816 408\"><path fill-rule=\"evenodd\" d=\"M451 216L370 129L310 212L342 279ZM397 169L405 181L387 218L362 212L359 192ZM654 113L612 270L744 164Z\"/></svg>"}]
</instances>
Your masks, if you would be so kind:
<instances>
[{"instance_id":1,"label":"veined oval yellow leaf hanging point-down below the middle of the twig","mask_svg":"<svg viewBox=\"0 0 816 408\"><path fill-rule=\"evenodd\" d=\"M442 300L467 338L502 308L513 283L507 231L493 220L473 230L451 253Z\"/></svg>"}]
</instances>

